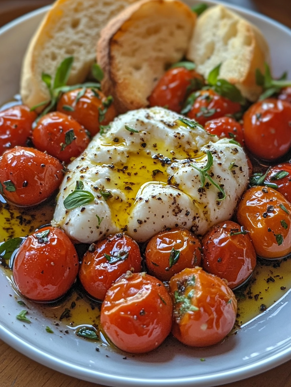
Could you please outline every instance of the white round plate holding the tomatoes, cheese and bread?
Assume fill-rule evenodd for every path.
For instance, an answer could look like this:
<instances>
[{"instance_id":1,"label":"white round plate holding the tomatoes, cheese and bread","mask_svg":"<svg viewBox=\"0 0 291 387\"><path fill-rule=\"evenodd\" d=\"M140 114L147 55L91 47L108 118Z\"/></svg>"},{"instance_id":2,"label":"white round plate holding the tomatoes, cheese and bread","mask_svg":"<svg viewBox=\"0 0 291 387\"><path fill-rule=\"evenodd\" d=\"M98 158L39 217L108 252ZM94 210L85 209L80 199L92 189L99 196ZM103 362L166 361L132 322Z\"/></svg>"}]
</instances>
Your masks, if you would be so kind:
<instances>
[{"instance_id":1,"label":"white round plate holding the tomatoes, cheese and bread","mask_svg":"<svg viewBox=\"0 0 291 387\"><path fill-rule=\"evenodd\" d=\"M284 70L291 73L291 31L254 12L229 8L237 10L262 30L271 46L274 75ZM32 12L0 29L0 103L18 92L22 57L47 9ZM15 316L23 307L10 296L14 295L13 290L1 270L0 294L3 341L43 365L95 383L126 387L208 387L256 375L291 359L291 291L222 344L194 349L168 340L154 352L129 355L126 360L124 355L106 348L96 352L94 343L73 334L48 334L44 328L51 325L51 321L33 304L29 305L32 324L16 320ZM201 358L206 361L201 362Z\"/></svg>"}]
</instances>

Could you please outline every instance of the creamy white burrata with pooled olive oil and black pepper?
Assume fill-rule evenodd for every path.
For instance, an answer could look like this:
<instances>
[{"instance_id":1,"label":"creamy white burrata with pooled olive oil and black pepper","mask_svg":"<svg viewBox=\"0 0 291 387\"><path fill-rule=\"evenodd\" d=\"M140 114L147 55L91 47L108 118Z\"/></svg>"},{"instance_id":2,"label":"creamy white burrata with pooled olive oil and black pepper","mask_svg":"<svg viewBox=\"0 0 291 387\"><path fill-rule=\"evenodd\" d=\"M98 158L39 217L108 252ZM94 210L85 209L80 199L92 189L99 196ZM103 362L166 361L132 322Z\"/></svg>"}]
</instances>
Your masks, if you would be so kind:
<instances>
[{"instance_id":1,"label":"creamy white burrata with pooled olive oil and black pepper","mask_svg":"<svg viewBox=\"0 0 291 387\"><path fill-rule=\"evenodd\" d=\"M180 117L163 108L129 111L106 134L97 134L68 166L53 225L76 241L92 243L119 231L146 241L178 226L204 234L229 219L248 182L245 153L228 139L189 127ZM201 187L201 175L192 166L206 165L206 151L213 156L209 176L223 188L223 200L207 178ZM63 202L78 180L94 200L66 210ZM104 198L104 192L111 196Z\"/></svg>"}]
</instances>

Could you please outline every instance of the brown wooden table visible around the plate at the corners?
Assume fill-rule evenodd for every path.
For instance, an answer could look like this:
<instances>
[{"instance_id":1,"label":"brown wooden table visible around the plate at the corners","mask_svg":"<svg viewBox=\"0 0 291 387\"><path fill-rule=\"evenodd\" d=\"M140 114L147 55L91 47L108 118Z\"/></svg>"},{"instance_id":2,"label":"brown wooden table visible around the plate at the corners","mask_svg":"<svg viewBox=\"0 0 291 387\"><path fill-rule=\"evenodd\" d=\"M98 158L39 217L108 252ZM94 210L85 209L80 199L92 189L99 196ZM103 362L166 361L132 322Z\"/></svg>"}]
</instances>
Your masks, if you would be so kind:
<instances>
[{"instance_id":1,"label":"brown wooden table visible around the plate at the corners","mask_svg":"<svg viewBox=\"0 0 291 387\"><path fill-rule=\"evenodd\" d=\"M227 0L225 0L227 1ZM291 0L228 0L245 5L291 27ZM49 0L0 0L0 25ZM0 340L0 387L103 387L63 375L30 360ZM291 360L287 363L225 387L291 387Z\"/></svg>"}]
</instances>

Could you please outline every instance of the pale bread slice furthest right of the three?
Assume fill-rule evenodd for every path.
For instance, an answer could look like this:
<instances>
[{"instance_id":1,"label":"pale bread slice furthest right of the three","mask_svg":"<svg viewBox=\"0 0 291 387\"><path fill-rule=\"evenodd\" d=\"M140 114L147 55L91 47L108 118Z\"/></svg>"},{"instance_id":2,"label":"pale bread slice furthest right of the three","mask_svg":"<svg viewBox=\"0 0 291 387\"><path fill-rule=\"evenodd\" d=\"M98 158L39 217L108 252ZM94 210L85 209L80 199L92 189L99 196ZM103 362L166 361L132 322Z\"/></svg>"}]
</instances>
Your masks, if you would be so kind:
<instances>
[{"instance_id":1,"label":"pale bread slice furthest right of the three","mask_svg":"<svg viewBox=\"0 0 291 387\"><path fill-rule=\"evenodd\" d=\"M219 77L235 84L250 101L256 101L262 89L255 83L255 69L264 72L269 47L257 27L223 5L216 5L197 19L187 58L206 78L222 63Z\"/></svg>"}]
</instances>

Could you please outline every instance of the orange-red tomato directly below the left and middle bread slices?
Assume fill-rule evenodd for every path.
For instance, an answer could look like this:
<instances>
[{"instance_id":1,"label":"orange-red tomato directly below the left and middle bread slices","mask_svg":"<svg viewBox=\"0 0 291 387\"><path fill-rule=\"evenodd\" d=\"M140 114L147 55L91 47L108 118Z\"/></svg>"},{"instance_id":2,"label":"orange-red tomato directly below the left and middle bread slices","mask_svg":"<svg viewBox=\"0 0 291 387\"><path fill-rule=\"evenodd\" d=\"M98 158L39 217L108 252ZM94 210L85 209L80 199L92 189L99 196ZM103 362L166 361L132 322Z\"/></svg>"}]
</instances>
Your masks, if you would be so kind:
<instances>
[{"instance_id":1,"label":"orange-red tomato directly below the left and middle bread slices","mask_svg":"<svg viewBox=\"0 0 291 387\"><path fill-rule=\"evenodd\" d=\"M116 116L112 99L97 89L68 91L58 102L57 110L72 116L93 136L100 130L100 125L108 125ZM83 94L83 95L82 95ZM81 96L81 97L80 97Z\"/></svg>"}]
</instances>

